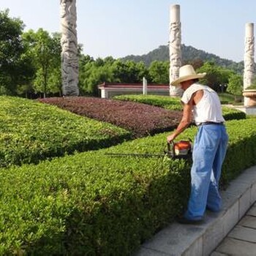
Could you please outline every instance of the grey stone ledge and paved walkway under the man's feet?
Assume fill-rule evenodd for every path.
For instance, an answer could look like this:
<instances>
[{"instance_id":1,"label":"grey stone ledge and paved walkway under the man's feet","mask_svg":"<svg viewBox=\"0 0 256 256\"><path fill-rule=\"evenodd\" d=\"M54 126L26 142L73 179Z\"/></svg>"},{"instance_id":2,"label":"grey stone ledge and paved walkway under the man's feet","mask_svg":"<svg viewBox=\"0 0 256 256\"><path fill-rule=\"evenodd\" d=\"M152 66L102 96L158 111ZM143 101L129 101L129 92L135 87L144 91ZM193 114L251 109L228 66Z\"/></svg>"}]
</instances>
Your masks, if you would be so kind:
<instances>
[{"instance_id":1,"label":"grey stone ledge and paved walkway under the man's feet","mask_svg":"<svg viewBox=\"0 0 256 256\"><path fill-rule=\"evenodd\" d=\"M256 166L231 181L222 200L222 211L208 211L203 224L172 223L134 256L256 256Z\"/></svg>"}]
</instances>

